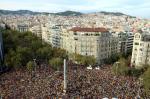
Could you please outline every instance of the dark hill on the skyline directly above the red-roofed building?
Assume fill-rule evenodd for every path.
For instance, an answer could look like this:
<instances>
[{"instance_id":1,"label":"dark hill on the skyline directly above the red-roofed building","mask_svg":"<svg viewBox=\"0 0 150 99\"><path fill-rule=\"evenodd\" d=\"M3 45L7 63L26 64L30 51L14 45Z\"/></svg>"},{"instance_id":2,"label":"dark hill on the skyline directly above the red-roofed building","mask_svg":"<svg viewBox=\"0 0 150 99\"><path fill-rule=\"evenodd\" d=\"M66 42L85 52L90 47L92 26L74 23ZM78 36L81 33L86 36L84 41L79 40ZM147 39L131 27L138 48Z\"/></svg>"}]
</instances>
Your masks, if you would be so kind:
<instances>
[{"instance_id":1,"label":"dark hill on the skyline directly above the red-roofed building","mask_svg":"<svg viewBox=\"0 0 150 99\"><path fill-rule=\"evenodd\" d=\"M65 12L59 12L54 13L55 15L61 15L61 16L80 16L82 15L81 12L75 12L75 11L65 11Z\"/></svg>"}]
</instances>

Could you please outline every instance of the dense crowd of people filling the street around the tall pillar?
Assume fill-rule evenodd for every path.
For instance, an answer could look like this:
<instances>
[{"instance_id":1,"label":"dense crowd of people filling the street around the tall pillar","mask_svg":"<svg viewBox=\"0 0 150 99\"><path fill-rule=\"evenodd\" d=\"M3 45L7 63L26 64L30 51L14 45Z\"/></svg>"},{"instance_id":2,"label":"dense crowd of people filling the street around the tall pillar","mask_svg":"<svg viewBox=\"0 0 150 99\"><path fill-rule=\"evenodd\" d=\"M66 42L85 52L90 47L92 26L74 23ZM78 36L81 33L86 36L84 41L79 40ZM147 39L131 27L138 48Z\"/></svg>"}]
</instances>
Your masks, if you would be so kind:
<instances>
[{"instance_id":1,"label":"dense crowd of people filling the street around the tall pillar","mask_svg":"<svg viewBox=\"0 0 150 99\"><path fill-rule=\"evenodd\" d=\"M13 70L0 75L2 99L150 99L137 78L115 76L111 66L88 70L67 66L67 89L63 92L63 70L40 66L34 72Z\"/></svg>"}]
</instances>

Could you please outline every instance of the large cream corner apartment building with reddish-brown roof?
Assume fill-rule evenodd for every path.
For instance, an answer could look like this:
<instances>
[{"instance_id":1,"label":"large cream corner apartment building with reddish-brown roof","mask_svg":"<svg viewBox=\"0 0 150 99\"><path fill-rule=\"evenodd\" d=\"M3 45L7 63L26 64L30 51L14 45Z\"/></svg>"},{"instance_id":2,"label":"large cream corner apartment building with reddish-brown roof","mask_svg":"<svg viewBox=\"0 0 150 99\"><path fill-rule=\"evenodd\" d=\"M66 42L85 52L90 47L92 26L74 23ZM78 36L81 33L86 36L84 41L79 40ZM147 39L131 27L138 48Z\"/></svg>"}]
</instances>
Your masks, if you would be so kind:
<instances>
[{"instance_id":1,"label":"large cream corner apartment building with reddish-brown roof","mask_svg":"<svg viewBox=\"0 0 150 99\"><path fill-rule=\"evenodd\" d=\"M74 27L61 34L61 47L69 53L93 55L98 64L118 53L118 39L105 28Z\"/></svg>"}]
</instances>

